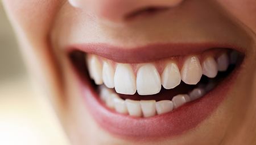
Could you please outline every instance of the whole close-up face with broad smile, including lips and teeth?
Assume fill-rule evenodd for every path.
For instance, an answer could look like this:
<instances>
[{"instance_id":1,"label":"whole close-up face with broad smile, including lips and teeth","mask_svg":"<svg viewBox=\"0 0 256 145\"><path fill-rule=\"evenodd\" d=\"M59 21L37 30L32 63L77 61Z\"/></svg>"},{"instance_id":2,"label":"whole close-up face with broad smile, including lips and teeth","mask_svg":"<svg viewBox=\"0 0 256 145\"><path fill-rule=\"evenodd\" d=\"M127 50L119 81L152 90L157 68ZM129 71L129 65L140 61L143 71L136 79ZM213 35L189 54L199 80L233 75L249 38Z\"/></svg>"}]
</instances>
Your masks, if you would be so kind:
<instances>
[{"instance_id":1,"label":"whole close-up face with broad smile, including lips and teeth","mask_svg":"<svg viewBox=\"0 0 256 145\"><path fill-rule=\"evenodd\" d=\"M3 0L72 144L256 144L255 0Z\"/></svg>"}]
</instances>

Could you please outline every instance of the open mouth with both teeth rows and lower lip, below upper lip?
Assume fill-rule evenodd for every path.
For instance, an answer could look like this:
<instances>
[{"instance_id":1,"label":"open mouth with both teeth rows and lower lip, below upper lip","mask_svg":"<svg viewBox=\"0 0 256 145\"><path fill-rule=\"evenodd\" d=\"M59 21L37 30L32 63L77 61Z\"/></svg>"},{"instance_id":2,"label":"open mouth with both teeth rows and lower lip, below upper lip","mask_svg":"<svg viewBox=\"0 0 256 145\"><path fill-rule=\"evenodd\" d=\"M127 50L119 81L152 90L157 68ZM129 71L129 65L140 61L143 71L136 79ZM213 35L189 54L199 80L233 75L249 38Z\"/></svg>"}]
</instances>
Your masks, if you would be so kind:
<instances>
[{"instance_id":1,"label":"open mouth with both teeth rows and lower lip, below upper lip","mask_svg":"<svg viewBox=\"0 0 256 145\"><path fill-rule=\"evenodd\" d=\"M79 49L69 56L97 122L126 136L170 136L195 127L223 100L244 57L231 48L139 63ZM162 125L152 127L156 121Z\"/></svg>"}]
</instances>

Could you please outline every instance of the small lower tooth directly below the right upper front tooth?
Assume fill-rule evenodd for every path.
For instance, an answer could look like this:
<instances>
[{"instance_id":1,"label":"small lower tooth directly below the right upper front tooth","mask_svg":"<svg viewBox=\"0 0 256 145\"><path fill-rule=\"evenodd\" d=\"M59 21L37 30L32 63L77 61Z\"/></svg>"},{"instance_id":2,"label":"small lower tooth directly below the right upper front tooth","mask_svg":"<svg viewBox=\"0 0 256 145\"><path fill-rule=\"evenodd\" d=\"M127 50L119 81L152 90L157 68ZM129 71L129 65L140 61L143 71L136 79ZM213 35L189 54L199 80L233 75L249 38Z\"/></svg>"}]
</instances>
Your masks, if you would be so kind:
<instances>
[{"instance_id":1,"label":"small lower tooth directly below the right upper front tooth","mask_svg":"<svg viewBox=\"0 0 256 145\"><path fill-rule=\"evenodd\" d=\"M142 100L141 109L143 117L152 117L155 115L155 100Z\"/></svg>"}]
</instances>

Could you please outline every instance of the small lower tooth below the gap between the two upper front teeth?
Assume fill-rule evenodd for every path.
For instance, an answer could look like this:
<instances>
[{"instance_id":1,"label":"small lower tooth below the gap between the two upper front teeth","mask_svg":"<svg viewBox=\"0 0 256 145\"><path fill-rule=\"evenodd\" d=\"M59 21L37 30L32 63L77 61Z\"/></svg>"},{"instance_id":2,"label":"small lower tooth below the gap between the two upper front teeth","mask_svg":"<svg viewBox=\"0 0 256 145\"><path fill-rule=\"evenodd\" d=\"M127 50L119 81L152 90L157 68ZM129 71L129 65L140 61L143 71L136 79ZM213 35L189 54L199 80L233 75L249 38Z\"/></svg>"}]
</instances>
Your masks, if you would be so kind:
<instances>
[{"instance_id":1,"label":"small lower tooth below the gap between the two upper front teeth","mask_svg":"<svg viewBox=\"0 0 256 145\"><path fill-rule=\"evenodd\" d=\"M126 107L129 115L134 117L142 116L141 103L139 101L126 99L125 103L126 103Z\"/></svg>"}]
</instances>

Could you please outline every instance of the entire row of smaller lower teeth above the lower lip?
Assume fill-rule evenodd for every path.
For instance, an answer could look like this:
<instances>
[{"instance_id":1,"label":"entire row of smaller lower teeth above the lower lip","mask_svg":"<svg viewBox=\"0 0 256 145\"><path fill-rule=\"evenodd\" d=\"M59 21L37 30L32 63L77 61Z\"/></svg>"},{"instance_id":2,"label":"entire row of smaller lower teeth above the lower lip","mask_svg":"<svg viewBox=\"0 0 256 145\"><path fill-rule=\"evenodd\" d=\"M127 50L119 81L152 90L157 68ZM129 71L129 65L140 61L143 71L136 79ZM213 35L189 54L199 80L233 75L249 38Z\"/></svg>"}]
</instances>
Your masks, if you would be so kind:
<instances>
[{"instance_id":1,"label":"entire row of smaller lower teeth above the lower lip","mask_svg":"<svg viewBox=\"0 0 256 145\"><path fill-rule=\"evenodd\" d=\"M200 86L200 85L199 85ZM100 98L110 109L121 114L129 114L133 117L152 117L156 114L168 113L187 102L197 100L214 88L214 82L209 82L204 87L193 89L188 94L178 94L171 100L123 100L113 90L100 86Z\"/></svg>"}]
</instances>

